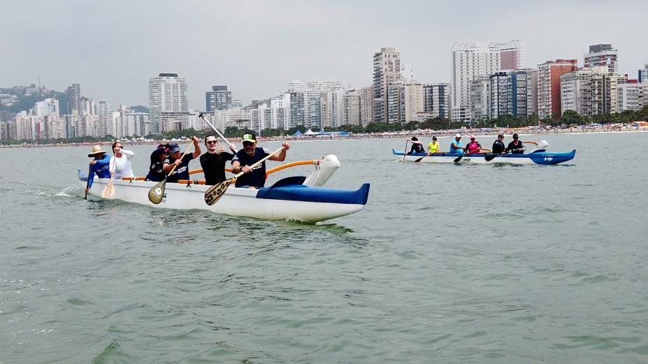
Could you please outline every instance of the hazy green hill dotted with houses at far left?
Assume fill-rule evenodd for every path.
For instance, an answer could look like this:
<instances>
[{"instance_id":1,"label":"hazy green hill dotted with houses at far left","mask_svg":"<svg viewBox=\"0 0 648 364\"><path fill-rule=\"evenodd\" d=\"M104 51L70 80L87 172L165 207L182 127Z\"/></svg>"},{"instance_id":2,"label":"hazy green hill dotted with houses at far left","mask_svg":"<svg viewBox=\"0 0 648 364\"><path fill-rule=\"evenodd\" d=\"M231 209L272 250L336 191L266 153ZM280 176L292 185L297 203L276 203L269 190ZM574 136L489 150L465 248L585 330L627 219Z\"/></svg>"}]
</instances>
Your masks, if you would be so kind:
<instances>
[{"instance_id":1,"label":"hazy green hill dotted with houses at far left","mask_svg":"<svg viewBox=\"0 0 648 364\"><path fill-rule=\"evenodd\" d=\"M65 110L68 103L68 96L65 92L58 92L47 87L14 86L0 88L0 120L6 122L13 119L18 112L29 110L38 101L45 99L57 99L59 108Z\"/></svg>"}]
</instances>

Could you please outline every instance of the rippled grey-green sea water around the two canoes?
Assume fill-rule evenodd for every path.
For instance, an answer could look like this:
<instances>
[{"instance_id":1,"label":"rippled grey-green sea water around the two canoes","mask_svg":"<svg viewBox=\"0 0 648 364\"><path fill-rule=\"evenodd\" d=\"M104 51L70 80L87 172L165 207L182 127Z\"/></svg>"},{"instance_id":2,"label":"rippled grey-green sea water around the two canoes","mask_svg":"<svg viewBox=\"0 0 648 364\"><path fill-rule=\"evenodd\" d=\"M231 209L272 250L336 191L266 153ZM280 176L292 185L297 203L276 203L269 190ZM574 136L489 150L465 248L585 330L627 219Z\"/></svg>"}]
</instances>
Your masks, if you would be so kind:
<instances>
[{"instance_id":1,"label":"rippled grey-green sea water around the two canoes","mask_svg":"<svg viewBox=\"0 0 648 364\"><path fill-rule=\"evenodd\" d=\"M329 187L371 183L315 225L84 201L90 147L0 149L0 363L648 363L648 133L521 139L576 158L292 142L338 156ZM127 144L136 174L151 148Z\"/></svg>"}]
</instances>

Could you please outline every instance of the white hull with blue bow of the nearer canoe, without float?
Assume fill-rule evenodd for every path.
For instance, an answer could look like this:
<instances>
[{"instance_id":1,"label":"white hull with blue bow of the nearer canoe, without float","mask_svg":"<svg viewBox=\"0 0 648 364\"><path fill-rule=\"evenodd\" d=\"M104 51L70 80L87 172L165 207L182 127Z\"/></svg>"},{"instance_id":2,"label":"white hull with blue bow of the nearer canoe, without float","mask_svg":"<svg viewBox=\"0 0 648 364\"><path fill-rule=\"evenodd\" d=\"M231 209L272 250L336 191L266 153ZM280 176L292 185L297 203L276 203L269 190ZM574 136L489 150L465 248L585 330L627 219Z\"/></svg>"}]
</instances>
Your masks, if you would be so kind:
<instances>
[{"instance_id":1,"label":"white hull with blue bow of the nearer canoe, without float","mask_svg":"<svg viewBox=\"0 0 648 364\"><path fill-rule=\"evenodd\" d=\"M87 177L79 171L79 183L85 188ZM101 197L101 191L108 184L108 178L94 178L89 195ZM148 191L157 182L147 181L123 181L115 180L115 196L113 199L129 203L139 203L154 208L170 208L175 210L199 209L208 210L216 214L227 214L232 216L253 217L266 220L296 220L314 223L343 217L362 210L366 204L369 192L369 184L357 191L345 191L336 189L324 189L322 187L307 187L300 185L295 198L305 201L291 201L286 199L272 198L275 194L266 193L266 197L258 198L257 194L264 189L240 189L230 186L222 198L214 205L207 205L204 200L205 191L210 187L201 184L177 184L167 183L165 198L161 203L155 205L148 200ZM275 190L295 189L294 186L277 187ZM274 191L273 191L274 192ZM308 201L310 196L319 194L319 201ZM268 197L269 196L269 197ZM340 197L341 196L341 197ZM343 203L326 202L338 201L341 198ZM312 198L310 198L312 199Z\"/></svg>"}]
</instances>

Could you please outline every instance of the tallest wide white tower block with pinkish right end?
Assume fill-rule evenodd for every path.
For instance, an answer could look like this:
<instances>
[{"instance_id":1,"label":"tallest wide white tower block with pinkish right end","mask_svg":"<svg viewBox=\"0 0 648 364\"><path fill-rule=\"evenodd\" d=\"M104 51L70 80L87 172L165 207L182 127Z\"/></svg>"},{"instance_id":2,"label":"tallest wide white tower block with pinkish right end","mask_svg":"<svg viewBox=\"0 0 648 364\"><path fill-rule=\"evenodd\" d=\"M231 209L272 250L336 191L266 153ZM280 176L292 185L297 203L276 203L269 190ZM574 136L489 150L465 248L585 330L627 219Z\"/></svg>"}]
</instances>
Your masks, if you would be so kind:
<instances>
[{"instance_id":1,"label":"tallest wide white tower block with pinkish right end","mask_svg":"<svg viewBox=\"0 0 648 364\"><path fill-rule=\"evenodd\" d=\"M504 69L526 66L524 44L455 43L452 46L452 114L470 119L470 81L480 75L492 75ZM454 119L453 117L453 119Z\"/></svg>"}]
</instances>

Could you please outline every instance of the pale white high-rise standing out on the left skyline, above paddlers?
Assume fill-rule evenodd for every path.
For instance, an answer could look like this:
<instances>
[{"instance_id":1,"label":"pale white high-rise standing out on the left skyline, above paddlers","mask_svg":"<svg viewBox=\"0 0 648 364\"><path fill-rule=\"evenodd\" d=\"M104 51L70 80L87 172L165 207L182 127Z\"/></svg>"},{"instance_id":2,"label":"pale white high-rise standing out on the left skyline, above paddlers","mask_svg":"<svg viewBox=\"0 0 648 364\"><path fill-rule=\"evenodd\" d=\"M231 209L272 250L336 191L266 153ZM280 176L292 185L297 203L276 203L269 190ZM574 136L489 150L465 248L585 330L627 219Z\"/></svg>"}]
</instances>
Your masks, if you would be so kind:
<instances>
[{"instance_id":1,"label":"pale white high-rise standing out on the left skyline, above paddlers","mask_svg":"<svg viewBox=\"0 0 648 364\"><path fill-rule=\"evenodd\" d=\"M178 73L160 73L148 82L151 133L179 130L189 119L189 86Z\"/></svg>"}]
</instances>

